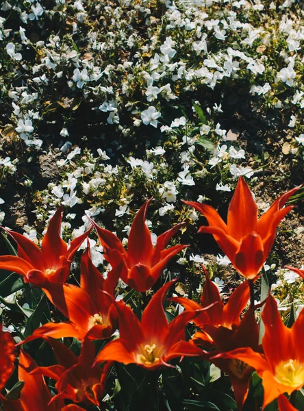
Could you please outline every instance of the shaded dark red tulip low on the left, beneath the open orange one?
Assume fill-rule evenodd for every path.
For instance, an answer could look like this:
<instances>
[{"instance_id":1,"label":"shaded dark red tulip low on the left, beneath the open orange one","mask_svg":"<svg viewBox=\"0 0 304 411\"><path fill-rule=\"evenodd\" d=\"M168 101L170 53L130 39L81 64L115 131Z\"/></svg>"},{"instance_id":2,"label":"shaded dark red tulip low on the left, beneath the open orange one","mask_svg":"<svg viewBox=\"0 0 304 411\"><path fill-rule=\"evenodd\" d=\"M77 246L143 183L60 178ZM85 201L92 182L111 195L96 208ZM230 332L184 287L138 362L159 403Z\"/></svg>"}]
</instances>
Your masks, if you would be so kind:
<instances>
[{"instance_id":1,"label":"shaded dark red tulip low on the left, beneath the open orange one","mask_svg":"<svg viewBox=\"0 0 304 411\"><path fill-rule=\"evenodd\" d=\"M112 363L107 362L103 367L92 367L95 359L95 348L86 338L81 345L80 356L75 354L57 340L45 338L53 348L58 360L57 365L38 366L31 375L45 375L56 381L58 394L51 399L71 399L99 406L106 393L107 375L112 368Z\"/></svg>"}]
</instances>

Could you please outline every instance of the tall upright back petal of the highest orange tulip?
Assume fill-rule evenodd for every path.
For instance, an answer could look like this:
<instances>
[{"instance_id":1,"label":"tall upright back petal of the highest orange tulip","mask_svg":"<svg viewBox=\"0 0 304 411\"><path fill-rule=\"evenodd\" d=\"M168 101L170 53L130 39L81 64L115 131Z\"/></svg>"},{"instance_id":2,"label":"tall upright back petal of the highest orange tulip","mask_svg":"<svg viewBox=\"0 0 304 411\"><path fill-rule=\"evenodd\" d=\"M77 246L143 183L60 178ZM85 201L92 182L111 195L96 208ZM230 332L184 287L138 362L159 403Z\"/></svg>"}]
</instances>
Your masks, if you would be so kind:
<instances>
[{"instance_id":1,"label":"tall upright back petal of the highest orange tulip","mask_svg":"<svg viewBox=\"0 0 304 411\"><path fill-rule=\"evenodd\" d=\"M227 216L228 232L240 241L242 237L257 231L257 205L249 186L240 177L230 201Z\"/></svg>"}]
</instances>

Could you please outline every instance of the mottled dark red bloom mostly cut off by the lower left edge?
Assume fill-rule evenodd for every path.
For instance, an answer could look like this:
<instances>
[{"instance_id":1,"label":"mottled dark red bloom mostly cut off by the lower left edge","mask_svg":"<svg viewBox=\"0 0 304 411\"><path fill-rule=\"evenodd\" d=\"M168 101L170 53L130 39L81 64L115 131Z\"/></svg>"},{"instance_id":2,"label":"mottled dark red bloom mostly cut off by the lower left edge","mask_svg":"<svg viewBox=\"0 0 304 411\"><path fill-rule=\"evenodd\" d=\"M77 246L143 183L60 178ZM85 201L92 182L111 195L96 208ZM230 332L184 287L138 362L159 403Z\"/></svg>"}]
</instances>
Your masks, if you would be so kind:
<instances>
[{"instance_id":1,"label":"mottled dark red bloom mostly cut off by the lower left edge","mask_svg":"<svg viewBox=\"0 0 304 411\"><path fill-rule=\"evenodd\" d=\"M0 392L14 370L15 342L9 332L0 324Z\"/></svg>"}]
</instances>

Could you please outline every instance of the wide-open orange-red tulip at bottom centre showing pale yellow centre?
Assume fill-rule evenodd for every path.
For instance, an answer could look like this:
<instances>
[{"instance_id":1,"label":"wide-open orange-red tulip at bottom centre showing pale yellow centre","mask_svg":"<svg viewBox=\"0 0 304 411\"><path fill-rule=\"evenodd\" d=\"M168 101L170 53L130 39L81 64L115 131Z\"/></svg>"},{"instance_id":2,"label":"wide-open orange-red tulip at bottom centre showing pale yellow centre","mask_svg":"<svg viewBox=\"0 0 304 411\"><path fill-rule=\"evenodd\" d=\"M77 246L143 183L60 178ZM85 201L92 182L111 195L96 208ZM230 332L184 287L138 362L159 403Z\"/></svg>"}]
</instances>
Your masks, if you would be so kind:
<instances>
[{"instance_id":1,"label":"wide-open orange-red tulip at bottom centre showing pale yellow centre","mask_svg":"<svg viewBox=\"0 0 304 411\"><path fill-rule=\"evenodd\" d=\"M154 370L168 366L172 358L199 356L203 351L185 340L185 327L199 314L185 311L168 323L162 304L168 288L175 280L158 290L139 321L131 308L116 303L119 315L120 338L105 345L97 355L95 364L117 361L138 364Z\"/></svg>"}]
</instances>

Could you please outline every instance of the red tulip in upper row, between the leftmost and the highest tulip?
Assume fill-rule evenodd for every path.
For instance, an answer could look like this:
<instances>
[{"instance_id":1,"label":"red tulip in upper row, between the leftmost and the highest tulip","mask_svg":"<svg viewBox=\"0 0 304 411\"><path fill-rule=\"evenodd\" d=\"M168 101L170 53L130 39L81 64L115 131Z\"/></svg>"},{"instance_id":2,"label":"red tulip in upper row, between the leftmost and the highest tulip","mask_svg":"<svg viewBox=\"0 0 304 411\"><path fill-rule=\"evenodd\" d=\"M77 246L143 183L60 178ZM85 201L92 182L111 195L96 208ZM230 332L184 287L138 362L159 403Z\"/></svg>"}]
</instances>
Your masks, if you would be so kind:
<instances>
[{"instance_id":1,"label":"red tulip in upper row, between the leftmost and the highest tulip","mask_svg":"<svg viewBox=\"0 0 304 411\"><path fill-rule=\"evenodd\" d=\"M116 266L117 262L121 261L121 279L128 286L140 292L149 290L160 277L169 260L188 247L187 245L175 245L165 249L170 238L184 223L177 224L158 236L156 245L153 247L151 232L145 223L147 208L151 200L144 203L136 214L129 233L127 251L115 234L92 221L103 247L105 260L112 266Z\"/></svg>"}]
</instances>

